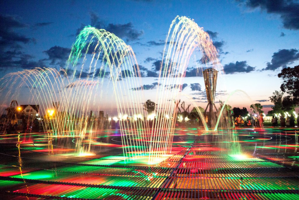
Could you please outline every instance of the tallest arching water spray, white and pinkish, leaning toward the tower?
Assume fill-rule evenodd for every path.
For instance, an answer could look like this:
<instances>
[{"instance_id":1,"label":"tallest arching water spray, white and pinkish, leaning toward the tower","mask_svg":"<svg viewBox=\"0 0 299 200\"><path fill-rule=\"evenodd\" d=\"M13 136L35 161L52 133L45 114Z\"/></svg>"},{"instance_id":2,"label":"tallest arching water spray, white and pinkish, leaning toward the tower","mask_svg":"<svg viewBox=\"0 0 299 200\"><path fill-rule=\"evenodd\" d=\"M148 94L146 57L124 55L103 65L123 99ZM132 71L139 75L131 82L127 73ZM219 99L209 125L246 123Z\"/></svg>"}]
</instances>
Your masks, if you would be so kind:
<instances>
[{"instance_id":1,"label":"tallest arching water spray, white and pinkish, leaning toward the tower","mask_svg":"<svg viewBox=\"0 0 299 200\"><path fill-rule=\"evenodd\" d=\"M167 45L169 44L169 45ZM157 112L171 116L170 120L157 116L152 129L150 152L161 154L171 152L171 144L176 123L177 109L174 103L179 98L183 80L194 50L202 52L203 59L210 62L213 68L222 72L218 54L208 33L193 20L177 16L170 25L160 65L159 85L156 95ZM151 154L150 160L160 154Z\"/></svg>"}]
</instances>

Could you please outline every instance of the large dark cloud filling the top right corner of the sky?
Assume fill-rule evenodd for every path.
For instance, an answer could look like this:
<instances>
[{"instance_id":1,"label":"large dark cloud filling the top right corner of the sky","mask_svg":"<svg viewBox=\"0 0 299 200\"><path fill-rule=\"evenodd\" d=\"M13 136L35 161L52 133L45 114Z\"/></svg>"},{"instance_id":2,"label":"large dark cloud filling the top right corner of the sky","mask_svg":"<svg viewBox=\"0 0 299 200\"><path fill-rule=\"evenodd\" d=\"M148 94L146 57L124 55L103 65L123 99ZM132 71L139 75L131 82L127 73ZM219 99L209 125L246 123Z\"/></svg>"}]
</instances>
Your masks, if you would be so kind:
<instances>
[{"instance_id":1,"label":"large dark cloud filling the top right corner of the sky","mask_svg":"<svg viewBox=\"0 0 299 200\"><path fill-rule=\"evenodd\" d=\"M266 10L280 16L283 27L286 29L299 30L299 3L296 0L237 0L246 7Z\"/></svg>"}]
</instances>

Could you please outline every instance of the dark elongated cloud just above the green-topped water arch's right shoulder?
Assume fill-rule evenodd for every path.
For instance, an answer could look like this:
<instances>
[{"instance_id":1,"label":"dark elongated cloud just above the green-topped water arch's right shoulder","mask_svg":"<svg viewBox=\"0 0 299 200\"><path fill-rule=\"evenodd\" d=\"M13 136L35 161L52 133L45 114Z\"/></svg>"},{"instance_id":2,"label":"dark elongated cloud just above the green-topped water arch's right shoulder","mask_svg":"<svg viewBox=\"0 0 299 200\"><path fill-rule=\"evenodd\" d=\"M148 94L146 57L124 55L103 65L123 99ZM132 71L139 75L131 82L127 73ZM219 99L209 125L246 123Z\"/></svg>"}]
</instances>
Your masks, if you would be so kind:
<instances>
[{"instance_id":1,"label":"dark elongated cloud just above the green-topped water arch's right shoulder","mask_svg":"<svg viewBox=\"0 0 299 200\"><path fill-rule=\"evenodd\" d=\"M108 25L106 25L103 21L100 21L96 13L91 12L90 17L91 17L91 26L94 26L96 28L103 28L106 31L114 33L116 36L120 38L125 38L127 41L138 40L140 39L141 35L144 33L142 30L135 29L131 22L126 24L109 23Z\"/></svg>"}]
</instances>

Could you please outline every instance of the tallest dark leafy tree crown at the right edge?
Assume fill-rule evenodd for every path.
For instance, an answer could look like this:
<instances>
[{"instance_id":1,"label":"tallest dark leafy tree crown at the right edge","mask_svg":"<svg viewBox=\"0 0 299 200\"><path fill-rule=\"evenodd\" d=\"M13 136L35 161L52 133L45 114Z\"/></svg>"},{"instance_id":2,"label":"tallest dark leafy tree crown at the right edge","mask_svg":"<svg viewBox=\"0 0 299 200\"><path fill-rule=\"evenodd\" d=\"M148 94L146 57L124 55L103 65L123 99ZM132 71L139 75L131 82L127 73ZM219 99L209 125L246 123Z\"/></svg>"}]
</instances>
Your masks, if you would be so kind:
<instances>
[{"instance_id":1,"label":"tallest dark leafy tree crown at the right edge","mask_svg":"<svg viewBox=\"0 0 299 200\"><path fill-rule=\"evenodd\" d=\"M299 65L291 68L283 68L278 74L283 79L280 89L293 97L295 105L299 105Z\"/></svg>"}]
</instances>

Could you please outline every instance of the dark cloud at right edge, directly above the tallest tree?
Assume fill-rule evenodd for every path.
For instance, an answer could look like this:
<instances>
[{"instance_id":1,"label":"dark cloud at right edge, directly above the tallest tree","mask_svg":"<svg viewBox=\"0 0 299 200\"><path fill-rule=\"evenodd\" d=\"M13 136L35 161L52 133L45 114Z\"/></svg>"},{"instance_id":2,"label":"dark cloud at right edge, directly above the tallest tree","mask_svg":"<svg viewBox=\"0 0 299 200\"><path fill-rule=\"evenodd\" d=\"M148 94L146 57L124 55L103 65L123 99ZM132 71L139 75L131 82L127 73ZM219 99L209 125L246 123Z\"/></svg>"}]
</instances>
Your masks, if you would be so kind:
<instances>
[{"instance_id":1,"label":"dark cloud at right edge, directly above the tallest tree","mask_svg":"<svg viewBox=\"0 0 299 200\"><path fill-rule=\"evenodd\" d=\"M267 63L267 67L263 70L276 70L279 67L286 67L294 61L299 60L299 51L297 49L279 49L273 53L271 63Z\"/></svg>"}]
</instances>

